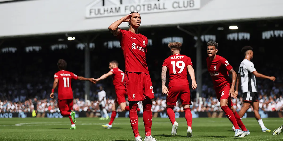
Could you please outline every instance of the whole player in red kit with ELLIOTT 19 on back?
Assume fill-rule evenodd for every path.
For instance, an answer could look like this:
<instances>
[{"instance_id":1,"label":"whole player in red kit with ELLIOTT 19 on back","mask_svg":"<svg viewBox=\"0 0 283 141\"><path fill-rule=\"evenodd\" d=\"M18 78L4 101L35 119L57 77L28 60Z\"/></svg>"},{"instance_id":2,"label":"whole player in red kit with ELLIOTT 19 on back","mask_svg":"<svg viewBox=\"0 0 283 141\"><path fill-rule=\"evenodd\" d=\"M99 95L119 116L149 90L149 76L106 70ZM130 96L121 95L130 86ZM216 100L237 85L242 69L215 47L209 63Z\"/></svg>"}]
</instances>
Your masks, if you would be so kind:
<instances>
[{"instance_id":1,"label":"whole player in red kit with ELLIOTT 19 on back","mask_svg":"<svg viewBox=\"0 0 283 141\"><path fill-rule=\"evenodd\" d=\"M193 89L196 89L197 84L194 76L194 69L192 67L192 60L190 57L180 54L181 46L182 44L179 42L168 44L172 55L165 59L162 65L162 93L167 94L166 109L168 117L173 125L171 136L175 137L177 135L179 124L175 120L173 108L180 98L188 124L187 137L192 137L192 113L190 109L192 103L187 72L189 72L192 79ZM165 86L167 69L169 71L169 91Z\"/></svg>"}]
</instances>

